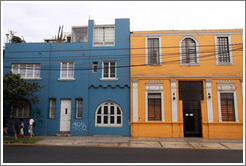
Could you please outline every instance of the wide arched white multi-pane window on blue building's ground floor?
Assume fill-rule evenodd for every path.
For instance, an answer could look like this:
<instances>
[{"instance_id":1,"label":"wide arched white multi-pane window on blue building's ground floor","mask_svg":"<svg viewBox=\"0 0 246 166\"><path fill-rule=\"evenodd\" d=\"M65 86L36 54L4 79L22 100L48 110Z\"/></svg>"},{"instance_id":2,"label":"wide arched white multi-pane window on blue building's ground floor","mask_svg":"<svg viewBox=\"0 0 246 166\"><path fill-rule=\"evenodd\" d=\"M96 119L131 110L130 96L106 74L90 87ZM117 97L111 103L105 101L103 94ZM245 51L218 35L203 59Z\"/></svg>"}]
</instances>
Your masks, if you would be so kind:
<instances>
[{"instance_id":1,"label":"wide arched white multi-pane window on blue building's ground floor","mask_svg":"<svg viewBox=\"0 0 246 166\"><path fill-rule=\"evenodd\" d=\"M97 107L95 126L96 127L121 127L122 110L114 102L104 102Z\"/></svg>"}]
</instances>

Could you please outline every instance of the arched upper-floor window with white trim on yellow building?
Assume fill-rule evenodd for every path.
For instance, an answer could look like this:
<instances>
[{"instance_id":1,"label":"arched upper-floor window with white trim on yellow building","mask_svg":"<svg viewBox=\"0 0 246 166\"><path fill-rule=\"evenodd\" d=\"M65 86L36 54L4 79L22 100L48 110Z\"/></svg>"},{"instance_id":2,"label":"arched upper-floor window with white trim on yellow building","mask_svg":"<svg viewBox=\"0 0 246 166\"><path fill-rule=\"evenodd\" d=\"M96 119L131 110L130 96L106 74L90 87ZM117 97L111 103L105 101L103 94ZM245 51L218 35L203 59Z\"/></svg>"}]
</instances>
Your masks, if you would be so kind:
<instances>
[{"instance_id":1,"label":"arched upper-floor window with white trim on yellow building","mask_svg":"<svg viewBox=\"0 0 246 166\"><path fill-rule=\"evenodd\" d=\"M193 37L185 37L180 44L180 58L182 65L199 64L198 43Z\"/></svg>"}]
</instances>

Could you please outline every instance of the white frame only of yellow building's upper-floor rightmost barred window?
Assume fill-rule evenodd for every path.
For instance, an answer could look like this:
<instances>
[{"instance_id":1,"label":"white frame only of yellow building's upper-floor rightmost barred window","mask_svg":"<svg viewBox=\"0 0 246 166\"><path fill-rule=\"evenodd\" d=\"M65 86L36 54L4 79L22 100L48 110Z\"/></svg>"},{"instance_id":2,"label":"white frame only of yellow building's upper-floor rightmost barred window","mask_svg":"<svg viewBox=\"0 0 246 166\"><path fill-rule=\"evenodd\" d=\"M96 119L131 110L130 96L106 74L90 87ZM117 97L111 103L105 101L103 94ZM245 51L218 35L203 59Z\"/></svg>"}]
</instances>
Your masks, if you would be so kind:
<instances>
[{"instance_id":1,"label":"white frame only of yellow building's upper-floor rightmost barred window","mask_svg":"<svg viewBox=\"0 0 246 166\"><path fill-rule=\"evenodd\" d=\"M219 62L219 54L218 54L218 37L227 37L228 44L229 44L229 55L230 55L230 62ZM231 42L231 35L214 35L215 38L215 54L216 54L216 65L233 65L233 56L232 56L232 42Z\"/></svg>"}]
</instances>

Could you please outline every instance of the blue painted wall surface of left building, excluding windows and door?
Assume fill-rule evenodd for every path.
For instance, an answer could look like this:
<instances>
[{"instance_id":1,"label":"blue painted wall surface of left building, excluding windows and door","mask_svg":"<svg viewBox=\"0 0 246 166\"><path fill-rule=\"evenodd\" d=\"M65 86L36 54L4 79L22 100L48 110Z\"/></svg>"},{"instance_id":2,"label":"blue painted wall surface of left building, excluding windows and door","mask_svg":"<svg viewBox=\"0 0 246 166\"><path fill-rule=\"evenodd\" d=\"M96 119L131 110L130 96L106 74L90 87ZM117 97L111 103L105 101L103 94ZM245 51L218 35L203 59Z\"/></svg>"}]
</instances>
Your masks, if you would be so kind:
<instances>
[{"instance_id":1,"label":"blue painted wall surface of left building, excluding windows and door","mask_svg":"<svg viewBox=\"0 0 246 166\"><path fill-rule=\"evenodd\" d=\"M88 42L85 43L7 43L3 73L12 63L40 63L44 86L38 93L40 102L32 105L32 117L37 122L36 135L55 135L60 130L61 99L71 99L72 135L130 135L130 21L115 20L115 46L93 47L94 21L88 22ZM124 48L124 49L122 49ZM107 50L108 49L108 50ZM91 50L91 51L88 51ZM97 50L97 51L95 51ZM114 60L117 81L101 81L102 62ZM74 81L60 81L60 63L74 61ZM98 72L85 70L98 62ZM123 67L124 66L124 67ZM52 70L47 70L52 69ZM34 81L34 80L27 80ZM56 118L49 119L49 98L56 98ZM75 99L83 98L83 118L75 118ZM123 110L123 127L95 127L95 111L105 101L117 103Z\"/></svg>"}]
</instances>

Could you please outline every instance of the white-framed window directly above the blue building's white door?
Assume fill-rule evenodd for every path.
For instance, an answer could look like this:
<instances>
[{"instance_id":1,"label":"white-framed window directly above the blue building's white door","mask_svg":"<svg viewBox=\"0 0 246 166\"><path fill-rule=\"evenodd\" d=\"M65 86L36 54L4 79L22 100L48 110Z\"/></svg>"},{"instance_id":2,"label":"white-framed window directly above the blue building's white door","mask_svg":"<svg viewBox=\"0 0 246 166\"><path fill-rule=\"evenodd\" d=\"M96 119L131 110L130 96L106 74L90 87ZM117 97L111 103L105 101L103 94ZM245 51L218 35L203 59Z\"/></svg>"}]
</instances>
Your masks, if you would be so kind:
<instances>
[{"instance_id":1,"label":"white-framed window directly above the blue building's white door","mask_svg":"<svg viewBox=\"0 0 246 166\"><path fill-rule=\"evenodd\" d=\"M74 79L74 62L61 62L60 79Z\"/></svg>"}]
</instances>

